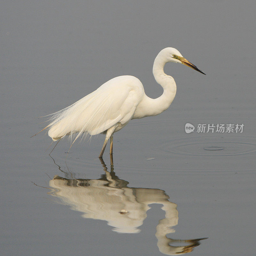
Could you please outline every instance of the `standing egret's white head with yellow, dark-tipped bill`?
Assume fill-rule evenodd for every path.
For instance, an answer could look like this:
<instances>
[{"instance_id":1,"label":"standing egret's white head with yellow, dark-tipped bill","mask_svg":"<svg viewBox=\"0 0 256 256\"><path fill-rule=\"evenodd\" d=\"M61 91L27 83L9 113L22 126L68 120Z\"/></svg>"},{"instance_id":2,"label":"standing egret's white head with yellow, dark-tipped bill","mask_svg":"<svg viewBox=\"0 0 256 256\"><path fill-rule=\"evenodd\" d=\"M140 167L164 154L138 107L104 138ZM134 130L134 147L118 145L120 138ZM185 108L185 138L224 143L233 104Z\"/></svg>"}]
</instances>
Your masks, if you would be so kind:
<instances>
[{"instance_id":1,"label":"standing egret's white head with yellow, dark-tipped bill","mask_svg":"<svg viewBox=\"0 0 256 256\"><path fill-rule=\"evenodd\" d=\"M184 65L186 65L190 68L193 68L196 71L204 74L204 72L202 72L194 64L192 64L191 62L186 60L177 49L172 48L172 47L167 47L167 48L163 49L161 52L166 56L168 62L181 63L181 64L184 64ZM206 75L206 74L204 74L204 75Z\"/></svg>"}]
</instances>

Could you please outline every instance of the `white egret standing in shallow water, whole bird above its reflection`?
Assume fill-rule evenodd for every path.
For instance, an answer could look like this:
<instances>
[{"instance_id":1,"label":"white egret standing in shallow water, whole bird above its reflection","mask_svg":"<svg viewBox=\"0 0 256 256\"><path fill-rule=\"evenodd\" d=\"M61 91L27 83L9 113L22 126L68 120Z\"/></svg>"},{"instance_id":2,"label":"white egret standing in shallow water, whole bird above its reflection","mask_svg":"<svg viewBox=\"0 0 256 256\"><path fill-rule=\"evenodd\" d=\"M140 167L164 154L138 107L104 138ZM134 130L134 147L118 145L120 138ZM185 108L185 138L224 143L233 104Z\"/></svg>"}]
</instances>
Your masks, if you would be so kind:
<instances>
[{"instance_id":1,"label":"white egret standing in shallow water, whole bird above its reflection","mask_svg":"<svg viewBox=\"0 0 256 256\"><path fill-rule=\"evenodd\" d=\"M156 82L164 89L160 97L149 98L140 80L134 76L117 76L71 106L52 114L51 123L44 129L49 128L48 135L54 141L66 135L72 139L76 134L76 140L82 134L104 133L106 138L99 157L102 157L109 138L112 154L114 132L122 129L131 119L156 116L172 103L176 94L176 83L172 76L164 73L167 62L181 63L204 74L178 50L165 48L158 53L153 65Z\"/></svg>"}]
</instances>

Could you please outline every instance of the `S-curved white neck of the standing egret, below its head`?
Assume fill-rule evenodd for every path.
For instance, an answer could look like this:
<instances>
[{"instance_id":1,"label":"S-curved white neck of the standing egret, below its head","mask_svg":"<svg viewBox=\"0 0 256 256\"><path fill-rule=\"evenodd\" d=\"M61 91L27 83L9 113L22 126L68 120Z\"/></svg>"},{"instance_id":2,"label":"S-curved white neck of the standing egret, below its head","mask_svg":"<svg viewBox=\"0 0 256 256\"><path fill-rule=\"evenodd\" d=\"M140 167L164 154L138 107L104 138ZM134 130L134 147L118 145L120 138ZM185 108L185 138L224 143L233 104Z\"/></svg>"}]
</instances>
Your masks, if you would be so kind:
<instances>
[{"instance_id":1,"label":"S-curved white neck of the standing egret, below its head","mask_svg":"<svg viewBox=\"0 0 256 256\"><path fill-rule=\"evenodd\" d=\"M163 94L156 99L151 99L144 94L143 99L136 108L133 118L156 116L171 105L176 94L176 83L172 76L168 76L164 73L164 65L167 62L168 60L164 54L159 52L153 65L153 75L156 82L163 87Z\"/></svg>"}]
</instances>

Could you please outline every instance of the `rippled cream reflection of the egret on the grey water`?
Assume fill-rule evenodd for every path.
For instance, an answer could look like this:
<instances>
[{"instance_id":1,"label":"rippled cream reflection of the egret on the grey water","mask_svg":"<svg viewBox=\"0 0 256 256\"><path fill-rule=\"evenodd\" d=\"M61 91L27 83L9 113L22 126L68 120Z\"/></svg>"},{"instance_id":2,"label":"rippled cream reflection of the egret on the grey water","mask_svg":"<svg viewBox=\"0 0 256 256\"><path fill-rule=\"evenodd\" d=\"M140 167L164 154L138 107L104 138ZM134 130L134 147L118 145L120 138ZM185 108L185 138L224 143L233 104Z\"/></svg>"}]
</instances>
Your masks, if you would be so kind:
<instances>
[{"instance_id":1,"label":"rippled cream reflection of the egret on the grey water","mask_svg":"<svg viewBox=\"0 0 256 256\"><path fill-rule=\"evenodd\" d=\"M67 172L66 178L55 175L53 180L50 180L50 186L53 188L51 195L58 197L62 204L69 205L72 210L83 212L84 218L106 220L108 225L114 227L112 230L118 233L140 232L138 227L147 217L147 211L150 209L148 205L162 204L165 218L159 220L156 227L159 251L166 255L183 254L191 252L193 247L200 244L201 239L167 238L167 234L175 232L172 227L178 224L177 205L168 200L169 196L164 190L127 187L129 182L116 176L113 159L111 160L111 170L108 172L103 159L100 159L105 174L98 180L75 179L73 174ZM178 242L188 245L171 245Z\"/></svg>"}]
</instances>

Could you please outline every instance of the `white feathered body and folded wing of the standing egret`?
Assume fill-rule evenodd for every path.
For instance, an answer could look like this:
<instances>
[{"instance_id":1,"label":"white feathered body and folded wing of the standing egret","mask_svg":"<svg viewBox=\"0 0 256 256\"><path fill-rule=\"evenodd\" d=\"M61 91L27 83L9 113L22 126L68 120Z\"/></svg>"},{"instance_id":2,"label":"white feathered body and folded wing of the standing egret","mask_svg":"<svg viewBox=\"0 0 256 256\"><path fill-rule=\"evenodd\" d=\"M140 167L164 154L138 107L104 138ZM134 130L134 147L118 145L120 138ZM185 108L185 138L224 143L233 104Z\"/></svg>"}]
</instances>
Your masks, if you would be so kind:
<instances>
[{"instance_id":1,"label":"white feathered body and folded wing of the standing egret","mask_svg":"<svg viewBox=\"0 0 256 256\"><path fill-rule=\"evenodd\" d=\"M48 134L53 140L73 134L77 134L77 139L82 134L104 132L118 122L124 124L132 118L143 93L137 78L113 78L71 106L52 114Z\"/></svg>"}]
</instances>

